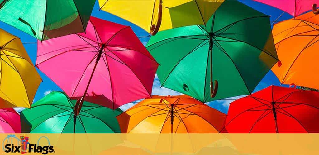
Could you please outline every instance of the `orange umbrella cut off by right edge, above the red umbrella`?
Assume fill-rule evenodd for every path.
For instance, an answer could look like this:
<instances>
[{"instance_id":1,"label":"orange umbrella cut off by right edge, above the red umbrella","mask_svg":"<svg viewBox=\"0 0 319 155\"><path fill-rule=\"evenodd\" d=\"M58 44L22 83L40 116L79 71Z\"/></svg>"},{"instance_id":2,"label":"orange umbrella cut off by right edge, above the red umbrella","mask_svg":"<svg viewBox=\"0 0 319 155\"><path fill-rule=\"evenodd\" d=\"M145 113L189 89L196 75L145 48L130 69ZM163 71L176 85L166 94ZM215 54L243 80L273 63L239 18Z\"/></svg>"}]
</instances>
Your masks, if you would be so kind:
<instances>
[{"instance_id":1,"label":"orange umbrella cut off by right edge, above the red umbrella","mask_svg":"<svg viewBox=\"0 0 319 155\"><path fill-rule=\"evenodd\" d=\"M319 15L309 12L275 24L272 34L280 60L272 71L281 84L319 89Z\"/></svg>"}]
</instances>

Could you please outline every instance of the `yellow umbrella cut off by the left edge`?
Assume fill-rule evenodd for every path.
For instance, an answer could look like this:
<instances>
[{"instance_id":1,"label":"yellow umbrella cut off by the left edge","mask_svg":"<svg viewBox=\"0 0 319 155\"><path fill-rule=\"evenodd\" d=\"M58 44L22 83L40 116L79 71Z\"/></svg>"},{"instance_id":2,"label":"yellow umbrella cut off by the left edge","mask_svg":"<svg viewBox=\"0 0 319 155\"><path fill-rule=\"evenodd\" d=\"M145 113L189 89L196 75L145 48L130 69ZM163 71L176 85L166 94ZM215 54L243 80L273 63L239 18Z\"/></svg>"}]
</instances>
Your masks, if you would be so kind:
<instances>
[{"instance_id":1,"label":"yellow umbrella cut off by the left edge","mask_svg":"<svg viewBox=\"0 0 319 155\"><path fill-rule=\"evenodd\" d=\"M42 79L20 38L0 34L0 108L30 107Z\"/></svg>"}]
</instances>

